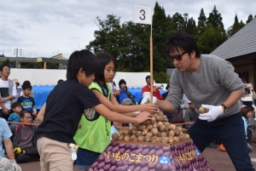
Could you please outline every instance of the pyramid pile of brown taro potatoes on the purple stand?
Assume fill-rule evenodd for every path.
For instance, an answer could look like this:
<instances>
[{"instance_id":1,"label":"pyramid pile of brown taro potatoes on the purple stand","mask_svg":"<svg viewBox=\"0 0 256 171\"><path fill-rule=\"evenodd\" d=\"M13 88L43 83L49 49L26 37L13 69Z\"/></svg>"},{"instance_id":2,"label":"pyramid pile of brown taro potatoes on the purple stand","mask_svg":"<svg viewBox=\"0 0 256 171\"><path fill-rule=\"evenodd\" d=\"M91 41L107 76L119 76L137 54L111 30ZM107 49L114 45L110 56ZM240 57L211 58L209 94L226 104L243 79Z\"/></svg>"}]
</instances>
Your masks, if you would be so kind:
<instances>
[{"instance_id":1,"label":"pyramid pile of brown taro potatoes on the purple stand","mask_svg":"<svg viewBox=\"0 0 256 171\"><path fill-rule=\"evenodd\" d=\"M180 140L189 140L189 134L183 134L180 127L168 123L162 111L152 115L152 119L131 127L123 127L119 135L112 134L113 140L143 141L170 144Z\"/></svg>"}]
</instances>

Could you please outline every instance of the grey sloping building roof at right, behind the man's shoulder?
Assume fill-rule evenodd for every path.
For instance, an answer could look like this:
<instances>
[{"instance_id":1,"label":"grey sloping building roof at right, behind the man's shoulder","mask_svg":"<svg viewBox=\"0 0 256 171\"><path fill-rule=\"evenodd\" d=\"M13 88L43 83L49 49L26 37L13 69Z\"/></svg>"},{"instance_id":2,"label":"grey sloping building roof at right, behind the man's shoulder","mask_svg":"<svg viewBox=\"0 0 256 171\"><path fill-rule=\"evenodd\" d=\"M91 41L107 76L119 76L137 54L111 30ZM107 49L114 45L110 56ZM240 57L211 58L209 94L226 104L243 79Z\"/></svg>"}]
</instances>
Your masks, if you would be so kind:
<instances>
[{"instance_id":1,"label":"grey sloping building roof at right, behind the man's shoulder","mask_svg":"<svg viewBox=\"0 0 256 171\"><path fill-rule=\"evenodd\" d=\"M227 60L252 53L256 53L256 19L243 26L241 30L218 46L211 54Z\"/></svg>"}]
</instances>

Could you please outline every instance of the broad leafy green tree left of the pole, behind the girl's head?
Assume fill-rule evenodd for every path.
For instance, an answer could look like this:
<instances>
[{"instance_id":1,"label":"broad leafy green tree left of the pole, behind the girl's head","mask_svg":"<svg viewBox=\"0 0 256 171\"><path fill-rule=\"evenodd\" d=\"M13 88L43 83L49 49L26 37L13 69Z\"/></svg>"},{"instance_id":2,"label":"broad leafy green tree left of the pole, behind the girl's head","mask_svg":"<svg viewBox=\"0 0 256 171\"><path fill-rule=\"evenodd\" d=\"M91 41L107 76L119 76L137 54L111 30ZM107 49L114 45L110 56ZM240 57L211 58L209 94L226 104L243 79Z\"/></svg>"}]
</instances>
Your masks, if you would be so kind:
<instances>
[{"instance_id":1,"label":"broad leafy green tree left of the pole, behind the girl's head","mask_svg":"<svg viewBox=\"0 0 256 171\"><path fill-rule=\"evenodd\" d=\"M95 40L87 49L112 54L118 61L118 71L149 71L148 25L128 21L120 26L115 15L108 15L107 20L97 17L97 25L99 31L95 31Z\"/></svg>"}]
</instances>

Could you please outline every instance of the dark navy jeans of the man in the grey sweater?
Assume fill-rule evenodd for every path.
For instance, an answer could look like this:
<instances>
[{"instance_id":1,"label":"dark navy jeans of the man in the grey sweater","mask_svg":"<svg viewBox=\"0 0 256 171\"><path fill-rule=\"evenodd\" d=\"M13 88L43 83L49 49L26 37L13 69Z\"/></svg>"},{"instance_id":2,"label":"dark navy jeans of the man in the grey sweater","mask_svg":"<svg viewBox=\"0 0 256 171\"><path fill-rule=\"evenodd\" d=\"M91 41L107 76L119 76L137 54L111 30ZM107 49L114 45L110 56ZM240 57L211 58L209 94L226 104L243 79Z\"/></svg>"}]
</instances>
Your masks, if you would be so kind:
<instances>
[{"instance_id":1,"label":"dark navy jeans of the man in the grey sweater","mask_svg":"<svg viewBox=\"0 0 256 171\"><path fill-rule=\"evenodd\" d=\"M220 140L236 170L255 170L247 149L247 139L241 113L212 122L197 119L189 128L189 135L202 152L213 140Z\"/></svg>"}]
</instances>

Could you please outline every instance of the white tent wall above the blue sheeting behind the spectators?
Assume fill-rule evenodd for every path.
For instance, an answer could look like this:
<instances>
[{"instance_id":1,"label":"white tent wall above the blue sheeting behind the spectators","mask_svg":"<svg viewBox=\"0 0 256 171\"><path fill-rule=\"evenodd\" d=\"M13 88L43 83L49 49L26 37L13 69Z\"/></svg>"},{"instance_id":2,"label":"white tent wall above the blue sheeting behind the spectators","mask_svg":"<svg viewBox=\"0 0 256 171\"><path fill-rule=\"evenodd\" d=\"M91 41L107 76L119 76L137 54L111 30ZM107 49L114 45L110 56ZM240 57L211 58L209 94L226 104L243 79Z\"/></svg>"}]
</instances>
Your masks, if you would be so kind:
<instances>
[{"instance_id":1,"label":"white tent wall above the blue sheeting behind the spectators","mask_svg":"<svg viewBox=\"0 0 256 171\"><path fill-rule=\"evenodd\" d=\"M32 85L55 85L58 80L66 80L66 70L44 69L16 69L11 68L9 79L17 78L22 84L28 80ZM146 76L150 72L116 72L113 81L117 87L120 79L125 79L128 88L143 88L146 85Z\"/></svg>"}]
</instances>

